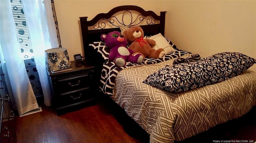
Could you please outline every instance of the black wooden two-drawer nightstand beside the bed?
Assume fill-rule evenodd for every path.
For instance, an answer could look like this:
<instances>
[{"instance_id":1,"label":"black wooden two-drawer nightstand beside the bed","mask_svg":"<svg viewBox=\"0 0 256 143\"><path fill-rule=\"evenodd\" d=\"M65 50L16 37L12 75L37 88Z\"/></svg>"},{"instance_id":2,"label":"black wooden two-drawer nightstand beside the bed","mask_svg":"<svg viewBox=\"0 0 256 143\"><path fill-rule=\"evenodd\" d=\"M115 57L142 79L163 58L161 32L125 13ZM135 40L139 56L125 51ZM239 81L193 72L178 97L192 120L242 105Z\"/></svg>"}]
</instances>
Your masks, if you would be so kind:
<instances>
[{"instance_id":1,"label":"black wooden two-drawer nightstand beside the bed","mask_svg":"<svg viewBox=\"0 0 256 143\"><path fill-rule=\"evenodd\" d=\"M86 61L71 61L68 71L48 71L54 90L53 106L58 116L96 103L92 80L94 66Z\"/></svg>"}]
</instances>

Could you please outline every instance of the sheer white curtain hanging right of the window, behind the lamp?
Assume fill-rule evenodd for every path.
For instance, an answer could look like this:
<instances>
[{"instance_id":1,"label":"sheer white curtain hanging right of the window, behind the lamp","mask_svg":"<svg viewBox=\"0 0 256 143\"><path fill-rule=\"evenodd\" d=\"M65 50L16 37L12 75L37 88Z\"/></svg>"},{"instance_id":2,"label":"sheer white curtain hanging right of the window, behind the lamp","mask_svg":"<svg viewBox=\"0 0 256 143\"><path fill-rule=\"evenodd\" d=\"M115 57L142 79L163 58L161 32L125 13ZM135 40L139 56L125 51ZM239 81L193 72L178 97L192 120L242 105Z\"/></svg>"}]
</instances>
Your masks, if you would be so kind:
<instances>
[{"instance_id":1,"label":"sheer white curtain hanging right of the window, behind the lamp","mask_svg":"<svg viewBox=\"0 0 256 143\"><path fill-rule=\"evenodd\" d=\"M36 69L44 94L44 104L50 106L53 92L46 72L44 51L59 47L51 0L22 0L22 2L35 54Z\"/></svg>"}]
</instances>

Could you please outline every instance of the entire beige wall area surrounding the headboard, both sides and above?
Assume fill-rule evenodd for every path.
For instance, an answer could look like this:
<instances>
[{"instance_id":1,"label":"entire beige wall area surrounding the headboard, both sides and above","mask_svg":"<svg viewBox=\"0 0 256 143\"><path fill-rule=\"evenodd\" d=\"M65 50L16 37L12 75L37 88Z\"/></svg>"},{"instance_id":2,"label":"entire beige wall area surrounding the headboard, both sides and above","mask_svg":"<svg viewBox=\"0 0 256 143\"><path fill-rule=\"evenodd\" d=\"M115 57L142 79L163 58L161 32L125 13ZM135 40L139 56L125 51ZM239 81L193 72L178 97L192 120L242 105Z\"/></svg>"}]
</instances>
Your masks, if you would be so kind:
<instances>
[{"instance_id":1,"label":"entire beige wall area surrounding the headboard, both sides and above","mask_svg":"<svg viewBox=\"0 0 256 143\"><path fill-rule=\"evenodd\" d=\"M146 4L145 4L146 3ZM156 14L167 11L166 36L186 51L209 56L235 51L256 58L254 0L55 0L62 47L83 54L79 17L91 20L121 5L137 5ZM256 64L251 68L256 71Z\"/></svg>"}]
</instances>

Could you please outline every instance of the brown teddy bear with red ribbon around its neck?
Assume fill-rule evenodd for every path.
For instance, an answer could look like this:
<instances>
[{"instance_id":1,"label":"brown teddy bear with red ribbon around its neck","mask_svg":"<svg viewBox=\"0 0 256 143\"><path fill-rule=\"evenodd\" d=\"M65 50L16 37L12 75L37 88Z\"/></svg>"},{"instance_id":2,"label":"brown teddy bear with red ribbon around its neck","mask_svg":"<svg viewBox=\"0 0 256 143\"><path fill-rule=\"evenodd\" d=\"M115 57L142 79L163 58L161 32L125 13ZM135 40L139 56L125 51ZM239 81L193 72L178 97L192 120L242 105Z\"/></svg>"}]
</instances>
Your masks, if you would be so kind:
<instances>
[{"instance_id":1,"label":"brown teddy bear with red ribbon around its neck","mask_svg":"<svg viewBox=\"0 0 256 143\"><path fill-rule=\"evenodd\" d=\"M156 41L145 38L144 31L140 26L132 26L126 29L123 36L127 39L130 45L130 49L134 52L142 53L145 58L158 59L164 56L164 49L153 49L156 45Z\"/></svg>"}]
</instances>

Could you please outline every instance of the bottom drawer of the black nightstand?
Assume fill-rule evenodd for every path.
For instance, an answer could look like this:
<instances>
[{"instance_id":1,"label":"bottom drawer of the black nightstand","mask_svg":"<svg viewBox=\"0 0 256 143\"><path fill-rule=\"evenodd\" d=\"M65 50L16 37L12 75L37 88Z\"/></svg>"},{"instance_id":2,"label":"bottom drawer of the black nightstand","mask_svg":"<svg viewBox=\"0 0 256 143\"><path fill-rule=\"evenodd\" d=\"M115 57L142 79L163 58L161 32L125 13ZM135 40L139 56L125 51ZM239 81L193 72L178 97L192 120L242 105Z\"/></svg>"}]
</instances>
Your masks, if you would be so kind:
<instances>
[{"instance_id":1,"label":"bottom drawer of the black nightstand","mask_svg":"<svg viewBox=\"0 0 256 143\"><path fill-rule=\"evenodd\" d=\"M58 107L64 107L69 106L73 104L78 104L80 102L84 102L86 100L92 99L93 95L90 92L90 88L82 88L79 90L75 90L72 92L66 92L63 94L60 94L59 101L58 101Z\"/></svg>"}]
</instances>

